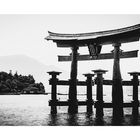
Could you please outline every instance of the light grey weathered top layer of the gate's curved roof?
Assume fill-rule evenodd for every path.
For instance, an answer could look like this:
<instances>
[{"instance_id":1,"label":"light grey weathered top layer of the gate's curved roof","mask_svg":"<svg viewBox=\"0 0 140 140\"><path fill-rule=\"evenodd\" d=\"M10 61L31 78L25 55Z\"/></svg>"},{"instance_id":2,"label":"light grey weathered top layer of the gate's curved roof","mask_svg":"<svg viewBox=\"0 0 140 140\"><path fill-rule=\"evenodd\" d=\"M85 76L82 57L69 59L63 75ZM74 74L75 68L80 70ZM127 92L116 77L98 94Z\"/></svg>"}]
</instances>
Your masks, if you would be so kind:
<instances>
[{"instance_id":1,"label":"light grey weathered top layer of the gate's curved roof","mask_svg":"<svg viewBox=\"0 0 140 140\"><path fill-rule=\"evenodd\" d=\"M77 33L77 34L65 34L65 33L54 33L50 32L49 36L45 39L47 40L83 40L83 39L93 39L97 37L104 37L110 35L120 35L122 33L127 33L129 35L132 31L139 31L140 24L114 29L114 30L106 30L106 31L98 31L98 32L89 32L89 33Z\"/></svg>"}]
</instances>

